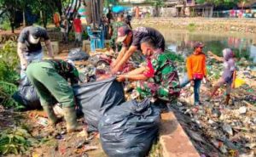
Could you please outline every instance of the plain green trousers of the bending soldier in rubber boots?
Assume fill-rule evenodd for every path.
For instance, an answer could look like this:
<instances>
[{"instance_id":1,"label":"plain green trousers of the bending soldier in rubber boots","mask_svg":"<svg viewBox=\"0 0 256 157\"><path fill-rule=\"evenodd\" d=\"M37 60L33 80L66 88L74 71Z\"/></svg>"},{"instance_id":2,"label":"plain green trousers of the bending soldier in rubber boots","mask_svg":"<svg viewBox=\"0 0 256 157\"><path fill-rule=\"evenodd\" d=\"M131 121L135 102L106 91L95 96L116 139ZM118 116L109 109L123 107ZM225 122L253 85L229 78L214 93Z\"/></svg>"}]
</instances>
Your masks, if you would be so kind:
<instances>
[{"instance_id":1,"label":"plain green trousers of the bending soldier in rubber boots","mask_svg":"<svg viewBox=\"0 0 256 157\"><path fill-rule=\"evenodd\" d=\"M35 87L40 103L44 105L52 105L52 96L63 107L74 106L73 89L68 82L58 74L53 64L48 62L33 62L29 64L26 75Z\"/></svg>"}]
</instances>

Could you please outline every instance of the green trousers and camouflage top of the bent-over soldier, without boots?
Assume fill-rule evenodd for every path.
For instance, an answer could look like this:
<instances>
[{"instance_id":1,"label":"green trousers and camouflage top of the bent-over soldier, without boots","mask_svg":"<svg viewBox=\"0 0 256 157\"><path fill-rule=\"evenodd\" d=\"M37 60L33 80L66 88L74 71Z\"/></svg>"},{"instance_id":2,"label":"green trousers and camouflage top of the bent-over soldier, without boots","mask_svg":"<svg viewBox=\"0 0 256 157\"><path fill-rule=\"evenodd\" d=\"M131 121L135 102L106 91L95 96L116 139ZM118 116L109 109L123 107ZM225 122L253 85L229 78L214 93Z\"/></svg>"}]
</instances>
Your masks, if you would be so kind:
<instances>
[{"instance_id":1,"label":"green trousers and camouflage top of the bent-over soldier, without boots","mask_svg":"<svg viewBox=\"0 0 256 157\"><path fill-rule=\"evenodd\" d=\"M63 107L74 106L73 89L67 79L72 83L79 81L79 72L63 60L45 60L32 62L27 66L26 75L35 87L42 106L53 103L52 96Z\"/></svg>"}]
</instances>

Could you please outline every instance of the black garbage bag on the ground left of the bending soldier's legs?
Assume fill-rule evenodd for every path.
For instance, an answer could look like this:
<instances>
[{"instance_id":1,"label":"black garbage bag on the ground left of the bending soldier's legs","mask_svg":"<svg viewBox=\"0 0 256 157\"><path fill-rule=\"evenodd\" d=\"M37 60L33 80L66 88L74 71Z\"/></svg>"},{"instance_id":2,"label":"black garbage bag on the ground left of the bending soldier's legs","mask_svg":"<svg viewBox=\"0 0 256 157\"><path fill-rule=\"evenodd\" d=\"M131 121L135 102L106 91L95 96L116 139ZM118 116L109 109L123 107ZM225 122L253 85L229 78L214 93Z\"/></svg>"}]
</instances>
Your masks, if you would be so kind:
<instances>
[{"instance_id":1,"label":"black garbage bag on the ground left of the bending soldier's legs","mask_svg":"<svg viewBox=\"0 0 256 157\"><path fill-rule=\"evenodd\" d=\"M39 109L41 104L36 89L27 77L20 81L18 91L12 96L16 102L23 104L26 109Z\"/></svg>"}]
</instances>

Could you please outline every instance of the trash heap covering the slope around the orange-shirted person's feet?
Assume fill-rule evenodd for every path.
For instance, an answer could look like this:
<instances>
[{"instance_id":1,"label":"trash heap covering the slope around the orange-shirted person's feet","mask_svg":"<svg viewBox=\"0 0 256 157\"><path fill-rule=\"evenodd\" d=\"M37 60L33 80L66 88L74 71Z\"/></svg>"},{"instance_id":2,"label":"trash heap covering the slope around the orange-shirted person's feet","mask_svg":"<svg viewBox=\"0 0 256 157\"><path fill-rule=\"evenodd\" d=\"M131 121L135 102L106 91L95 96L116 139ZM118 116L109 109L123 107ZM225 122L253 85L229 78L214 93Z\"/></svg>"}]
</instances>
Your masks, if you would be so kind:
<instances>
[{"instance_id":1,"label":"trash heap covering the slope around the orange-shirted person's feet","mask_svg":"<svg viewBox=\"0 0 256 157\"><path fill-rule=\"evenodd\" d=\"M229 105L224 104L224 88L208 102L211 87L203 83L203 105L192 105L193 88L188 86L183 88L178 103L172 106L178 121L203 156L256 155L256 70L241 64L242 60L238 62L236 88L232 89ZM208 78L214 83L223 67L212 63L207 69Z\"/></svg>"}]
</instances>

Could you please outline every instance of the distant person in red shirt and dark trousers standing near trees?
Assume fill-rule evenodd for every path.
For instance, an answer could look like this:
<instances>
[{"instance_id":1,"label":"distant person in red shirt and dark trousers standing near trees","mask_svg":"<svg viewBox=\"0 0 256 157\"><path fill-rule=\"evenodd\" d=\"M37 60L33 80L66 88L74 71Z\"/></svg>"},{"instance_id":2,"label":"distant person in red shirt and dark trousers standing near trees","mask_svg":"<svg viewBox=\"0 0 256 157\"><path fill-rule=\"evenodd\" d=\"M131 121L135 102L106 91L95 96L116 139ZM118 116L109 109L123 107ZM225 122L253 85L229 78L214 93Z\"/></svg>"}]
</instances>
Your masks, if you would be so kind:
<instances>
[{"instance_id":1,"label":"distant person in red shirt and dark trousers standing near trees","mask_svg":"<svg viewBox=\"0 0 256 157\"><path fill-rule=\"evenodd\" d=\"M77 18L73 20L73 31L75 32L75 46L82 45L82 22L80 20L81 15L78 14Z\"/></svg>"}]
</instances>

